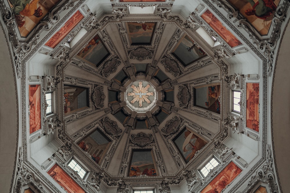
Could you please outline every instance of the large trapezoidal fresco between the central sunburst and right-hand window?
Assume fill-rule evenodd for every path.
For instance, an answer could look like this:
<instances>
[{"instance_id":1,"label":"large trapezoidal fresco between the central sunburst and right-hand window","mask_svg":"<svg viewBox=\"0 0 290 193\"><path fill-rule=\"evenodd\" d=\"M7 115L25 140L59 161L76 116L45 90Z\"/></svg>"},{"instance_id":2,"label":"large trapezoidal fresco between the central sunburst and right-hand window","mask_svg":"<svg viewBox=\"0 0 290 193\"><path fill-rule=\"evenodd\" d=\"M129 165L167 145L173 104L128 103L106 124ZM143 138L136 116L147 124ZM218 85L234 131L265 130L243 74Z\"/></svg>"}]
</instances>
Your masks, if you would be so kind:
<instances>
[{"instance_id":1,"label":"large trapezoidal fresco between the central sunburst and right-hand window","mask_svg":"<svg viewBox=\"0 0 290 193\"><path fill-rule=\"evenodd\" d=\"M205 85L193 88L193 96L194 106L212 111L214 113L220 113L220 102L218 100L220 96L220 84Z\"/></svg>"}]
</instances>

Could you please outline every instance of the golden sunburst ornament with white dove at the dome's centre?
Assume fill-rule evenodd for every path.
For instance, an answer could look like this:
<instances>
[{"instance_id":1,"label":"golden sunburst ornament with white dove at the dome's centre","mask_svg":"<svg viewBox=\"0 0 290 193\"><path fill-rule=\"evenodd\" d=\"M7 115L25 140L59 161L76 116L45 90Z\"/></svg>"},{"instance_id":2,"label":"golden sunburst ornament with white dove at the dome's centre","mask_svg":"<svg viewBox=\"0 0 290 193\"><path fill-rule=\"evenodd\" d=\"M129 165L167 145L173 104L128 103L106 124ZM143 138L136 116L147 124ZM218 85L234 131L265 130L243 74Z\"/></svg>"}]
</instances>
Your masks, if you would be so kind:
<instances>
[{"instance_id":1,"label":"golden sunburst ornament with white dove at the dome's centre","mask_svg":"<svg viewBox=\"0 0 290 193\"><path fill-rule=\"evenodd\" d=\"M139 87L135 87L134 84L131 85L131 88L133 89L133 92L128 93L128 96L132 96L133 100L131 100L131 104L134 102L139 102L139 107L142 107L143 102L147 102L148 104L151 103L151 101L148 99L148 96L152 96L153 92L148 92L148 88L150 87L150 84L147 84L146 87L142 86L142 81L139 82Z\"/></svg>"}]
</instances>

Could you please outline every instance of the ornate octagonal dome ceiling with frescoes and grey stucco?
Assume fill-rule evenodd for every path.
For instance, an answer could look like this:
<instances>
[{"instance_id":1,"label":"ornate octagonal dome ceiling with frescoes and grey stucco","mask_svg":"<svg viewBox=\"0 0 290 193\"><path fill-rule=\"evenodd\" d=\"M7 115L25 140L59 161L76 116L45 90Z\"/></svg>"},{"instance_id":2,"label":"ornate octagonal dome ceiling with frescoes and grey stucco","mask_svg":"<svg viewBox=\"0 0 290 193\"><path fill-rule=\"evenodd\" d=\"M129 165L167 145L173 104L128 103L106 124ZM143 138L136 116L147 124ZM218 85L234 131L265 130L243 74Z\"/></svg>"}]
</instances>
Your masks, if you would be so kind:
<instances>
[{"instance_id":1,"label":"ornate octagonal dome ceiling with frescoes and grey stucco","mask_svg":"<svg viewBox=\"0 0 290 193\"><path fill-rule=\"evenodd\" d=\"M15 191L204 193L226 178L218 192L249 192L268 182L245 183L271 154L264 76L281 25L246 21L229 2L39 1L47 15L33 26L5 1L23 93L18 157L40 175Z\"/></svg>"}]
</instances>

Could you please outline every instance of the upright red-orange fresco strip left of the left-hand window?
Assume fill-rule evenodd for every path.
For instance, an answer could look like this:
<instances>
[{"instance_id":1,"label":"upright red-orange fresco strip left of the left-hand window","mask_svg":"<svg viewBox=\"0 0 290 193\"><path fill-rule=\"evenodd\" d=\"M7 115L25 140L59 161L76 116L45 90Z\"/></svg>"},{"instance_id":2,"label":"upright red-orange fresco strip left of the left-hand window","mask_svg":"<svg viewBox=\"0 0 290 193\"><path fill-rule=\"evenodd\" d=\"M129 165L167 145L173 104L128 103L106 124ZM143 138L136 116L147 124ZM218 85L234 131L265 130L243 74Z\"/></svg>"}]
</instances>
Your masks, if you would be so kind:
<instances>
[{"instance_id":1,"label":"upright red-orange fresco strip left of the left-hand window","mask_svg":"<svg viewBox=\"0 0 290 193\"><path fill-rule=\"evenodd\" d=\"M29 85L29 133L41 129L40 84Z\"/></svg>"}]
</instances>

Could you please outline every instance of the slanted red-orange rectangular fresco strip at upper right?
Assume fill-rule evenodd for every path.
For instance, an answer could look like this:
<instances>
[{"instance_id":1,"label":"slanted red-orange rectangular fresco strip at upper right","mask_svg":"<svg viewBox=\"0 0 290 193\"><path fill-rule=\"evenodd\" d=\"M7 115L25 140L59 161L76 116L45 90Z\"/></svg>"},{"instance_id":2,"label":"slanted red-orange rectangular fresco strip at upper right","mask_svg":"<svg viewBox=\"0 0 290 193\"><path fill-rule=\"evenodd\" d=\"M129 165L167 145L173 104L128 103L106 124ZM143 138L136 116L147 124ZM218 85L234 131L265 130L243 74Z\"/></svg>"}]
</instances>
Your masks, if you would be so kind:
<instances>
[{"instance_id":1,"label":"slanted red-orange rectangular fresco strip at upper right","mask_svg":"<svg viewBox=\"0 0 290 193\"><path fill-rule=\"evenodd\" d=\"M216 18L209 10L206 10L202 15L202 19L208 23L215 32L217 32L231 47L241 45L242 43L222 25L222 22Z\"/></svg>"}]
</instances>

